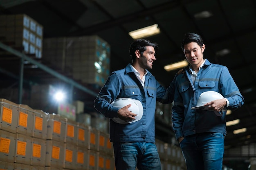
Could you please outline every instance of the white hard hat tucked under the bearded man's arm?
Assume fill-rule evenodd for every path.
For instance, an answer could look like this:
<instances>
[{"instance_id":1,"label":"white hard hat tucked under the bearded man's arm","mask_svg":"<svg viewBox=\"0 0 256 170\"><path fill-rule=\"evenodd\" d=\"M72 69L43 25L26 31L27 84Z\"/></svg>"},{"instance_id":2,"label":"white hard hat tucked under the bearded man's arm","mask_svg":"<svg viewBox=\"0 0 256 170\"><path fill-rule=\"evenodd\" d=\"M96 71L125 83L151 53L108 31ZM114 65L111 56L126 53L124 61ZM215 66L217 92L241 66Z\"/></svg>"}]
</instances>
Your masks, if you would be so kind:
<instances>
[{"instance_id":1,"label":"white hard hat tucked under the bearded man's arm","mask_svg":"<svg viewBox=\"0 0 256 170\"><path fill-rule=\"evenodd\" d=\"M116 123L121 123L121 124L127 124L127 123L137 122L138 120L141 120L143 115L143 106L139 100L135 100L132 98L118 98L111 103L112 106L117 107L118 109L121 109L130 104L132 105L128 108L128 110L131 111L132 113L137 114L137 116L135 116L135 120L127 121L127 122L124 120L121 120L120 118L112 118L112 120Z\"/></svg>"}]
</instances>

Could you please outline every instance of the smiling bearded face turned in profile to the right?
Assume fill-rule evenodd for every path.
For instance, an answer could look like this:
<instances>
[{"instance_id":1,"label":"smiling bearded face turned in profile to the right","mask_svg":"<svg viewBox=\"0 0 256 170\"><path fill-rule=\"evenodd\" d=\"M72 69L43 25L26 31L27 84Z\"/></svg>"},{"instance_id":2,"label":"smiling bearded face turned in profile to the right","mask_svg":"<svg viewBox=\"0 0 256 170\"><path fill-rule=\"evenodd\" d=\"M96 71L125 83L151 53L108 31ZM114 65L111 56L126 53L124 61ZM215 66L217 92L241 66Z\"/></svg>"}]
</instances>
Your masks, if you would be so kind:
<instances>
[{"instance_id":1,"label":"smiling bearded face turned in profile to the right","mask_svg":"<svg viewBox=\"0 0 256 170\"><path fill-rule=\"evenodd\" d=\"M146 46L147 50L139 56L138 63L139 66L143 69L151 70L153 68L153 62L155 58L155 49L152 46Z\"/></svg>"}]
</instances>

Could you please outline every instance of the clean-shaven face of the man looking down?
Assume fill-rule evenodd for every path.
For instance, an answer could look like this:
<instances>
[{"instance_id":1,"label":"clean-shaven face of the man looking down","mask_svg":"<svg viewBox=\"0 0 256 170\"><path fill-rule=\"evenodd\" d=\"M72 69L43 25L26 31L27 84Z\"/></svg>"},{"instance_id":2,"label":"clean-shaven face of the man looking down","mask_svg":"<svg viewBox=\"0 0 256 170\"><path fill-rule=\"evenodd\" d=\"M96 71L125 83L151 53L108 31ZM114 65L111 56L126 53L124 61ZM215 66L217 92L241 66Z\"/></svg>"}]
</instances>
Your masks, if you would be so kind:
<instances>
[{"instance_id":1,"label":"clean-shaven face of the man looking down","mask_svg":"<svg viewBox=\"0 0 256 170\"><path fill-rule=\"evenodd\" d=\"M186 56L187 61L191 64L193 70L198 71L200 65L204 62L203 60L203 52L204 52L204 44L202 48L196 43L191 42L189 44L184 45L184 54Z\"/></svg>"}]
</instances>

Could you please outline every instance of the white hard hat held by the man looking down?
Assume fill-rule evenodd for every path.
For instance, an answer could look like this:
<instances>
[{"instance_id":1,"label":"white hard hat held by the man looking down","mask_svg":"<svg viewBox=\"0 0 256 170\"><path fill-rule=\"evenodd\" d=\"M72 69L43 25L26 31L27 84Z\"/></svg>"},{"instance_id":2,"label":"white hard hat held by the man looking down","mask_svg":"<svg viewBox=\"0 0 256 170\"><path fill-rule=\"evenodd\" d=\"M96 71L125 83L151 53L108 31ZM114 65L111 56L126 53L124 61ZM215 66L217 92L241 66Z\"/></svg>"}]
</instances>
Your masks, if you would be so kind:
<instances>
[{"instance_id":1,"label":"white hard hat held by the man looking down","mask_svg":"<svg viewBox=\"0 0 256 170\"><path fill-rule=\"evenodd\" d=\"M204 104L211 102L213 100L218 100L218 99L222 99L222 98L224 98L224 97L221 94L219 94L218 92L214 92L214 91L203 92L198 98L196 107L191 107L191 109L201 109L201 110L212 111L212 110L208 109L209 106L204 106ZM220 111L220 112L214 111L214 113L217 116L222 116L222 114L223 114L222 111Z\"/></svg>"}]
</instances>

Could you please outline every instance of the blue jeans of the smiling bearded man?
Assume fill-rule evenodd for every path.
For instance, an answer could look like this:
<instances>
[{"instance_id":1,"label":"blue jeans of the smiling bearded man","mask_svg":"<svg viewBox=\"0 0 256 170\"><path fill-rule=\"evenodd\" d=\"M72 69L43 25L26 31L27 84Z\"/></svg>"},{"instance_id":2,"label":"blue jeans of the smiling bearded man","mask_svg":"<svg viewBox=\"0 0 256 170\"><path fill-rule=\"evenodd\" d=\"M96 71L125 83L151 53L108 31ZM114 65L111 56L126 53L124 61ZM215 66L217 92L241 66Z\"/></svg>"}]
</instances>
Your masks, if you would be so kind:
<instances>
[{"instance_id":1,"label":"blue jeans of the smiling bearded man","mask_svg":"<svg viewBox=\"0 0 256 170\"><path fill-rule=\"evenodd\" d=\"M116 170L161 170L155 143L113 142Z\"/></svg>"}]
</instances>

